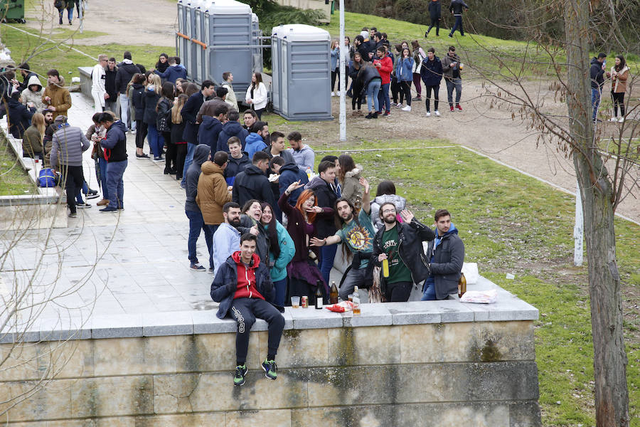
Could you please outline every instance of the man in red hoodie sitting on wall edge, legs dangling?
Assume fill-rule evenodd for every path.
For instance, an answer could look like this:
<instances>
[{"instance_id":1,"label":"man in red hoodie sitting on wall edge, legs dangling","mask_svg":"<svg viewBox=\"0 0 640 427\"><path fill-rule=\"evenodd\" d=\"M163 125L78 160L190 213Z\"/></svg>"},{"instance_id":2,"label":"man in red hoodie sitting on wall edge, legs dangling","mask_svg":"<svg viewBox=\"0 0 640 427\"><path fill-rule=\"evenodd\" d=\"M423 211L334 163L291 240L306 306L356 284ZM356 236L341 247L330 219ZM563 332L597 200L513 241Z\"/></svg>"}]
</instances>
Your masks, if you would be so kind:
<instances>
[{"instance_id":1,"label":"man in red hoodie sitting on wall edge, legs dangling","mask_svg":"<svg viewBox=\"0 0 640 427\"><path fill-rule=\"evenodd\" d=\"M231 315L238 323L235 338L235 377L233 384L245 384L247 374L247 352L249 349L249 333L256 317L269 324L267 340L267 359L262 362L262 369L268 379L277 379L275 356L284 330L284 317L279 309L272 305L274 301L273 283L269 268L260 262L255 253L256 237L245 233L240 237L240 251L235 251L223 265L218 268L213 283L211 297L219 302L218 318Z\"/></svg>"}]
</instances>

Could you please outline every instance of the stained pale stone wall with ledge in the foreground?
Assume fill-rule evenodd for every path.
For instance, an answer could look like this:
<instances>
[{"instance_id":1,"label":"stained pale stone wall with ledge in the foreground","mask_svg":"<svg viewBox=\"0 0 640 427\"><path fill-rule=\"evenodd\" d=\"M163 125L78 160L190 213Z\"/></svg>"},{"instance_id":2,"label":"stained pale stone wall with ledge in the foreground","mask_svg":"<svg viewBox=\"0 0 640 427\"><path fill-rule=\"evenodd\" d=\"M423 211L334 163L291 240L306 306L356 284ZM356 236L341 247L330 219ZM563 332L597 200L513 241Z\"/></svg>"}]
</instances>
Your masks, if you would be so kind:
<instances>
[{"instance_id":1,"label":"stained pale stone wall with ledge in the foreground","mask_svg":"<svg viewBox=\"0 0 640 427\"><path fill-rule=\"evenodd\" d=\"M31 337L39 342L0 344L0 357L14 349L3 368L15 366L0 369L0 394L16 396L60 369L9 411L9 425L21 427L540 426L534 316L518 313L455 300L364 305L362 317L287 310L278 379L260 369L267 332L258 321L241 387L233 386L227 320L211 320L218 333L163 326L143 336L44 342L40 332ZM191 328L203 330L195 317ZM175 334L144 336L155 332Z\"/></svg>"}]
</instances>

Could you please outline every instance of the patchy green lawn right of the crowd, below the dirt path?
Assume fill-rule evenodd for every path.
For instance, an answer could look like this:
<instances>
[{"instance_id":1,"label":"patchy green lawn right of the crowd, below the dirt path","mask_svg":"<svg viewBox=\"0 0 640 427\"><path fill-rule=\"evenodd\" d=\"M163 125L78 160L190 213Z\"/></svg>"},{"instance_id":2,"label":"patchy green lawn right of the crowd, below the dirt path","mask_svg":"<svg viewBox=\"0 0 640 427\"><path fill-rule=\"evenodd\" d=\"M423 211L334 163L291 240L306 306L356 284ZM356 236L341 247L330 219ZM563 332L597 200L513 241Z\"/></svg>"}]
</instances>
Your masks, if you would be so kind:
<instances>
[{"instance_id":1,"label":"patchy green lawn right of the crowd, below the dirt path","mask_svg":"<svg viewBox=\"0 0 640 427\"><path fill-rule=\"evenodd\" d=\"M482 275L540 310L535 352L543 425L594 425L587 268L572 265L575 199L462 147L409 149L442 145L451 144L386 140L341 148L353 150L374 194L379 181L391 179L425 223L432 223L436 209L452 212L464 240L466 261L479 263ZM390 146L398 149L356 152ZM321 157L316 155L316 160ZM636 289L640 287L640 227L619 218L615 225L621 277L628 289ZM510 272L516 273L516 280L505 279ZM631 426L635 427L640 426L640 321L629 311L638 303L632 296L624 301Z\"/></svg>"}]
</instances>

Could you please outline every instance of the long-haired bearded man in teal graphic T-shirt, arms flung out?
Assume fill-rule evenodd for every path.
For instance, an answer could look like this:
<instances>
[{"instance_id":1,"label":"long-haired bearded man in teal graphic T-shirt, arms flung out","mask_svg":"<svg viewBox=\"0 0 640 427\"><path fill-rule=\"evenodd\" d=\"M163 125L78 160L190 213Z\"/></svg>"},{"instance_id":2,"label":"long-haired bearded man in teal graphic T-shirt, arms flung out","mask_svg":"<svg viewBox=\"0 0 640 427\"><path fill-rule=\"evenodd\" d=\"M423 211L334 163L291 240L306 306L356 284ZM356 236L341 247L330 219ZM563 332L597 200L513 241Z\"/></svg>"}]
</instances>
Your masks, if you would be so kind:
<instances>
[{"instance_id":1,"label":"long-haired bearded man in teal graphic T-shirt, arms flung out","mask_svg":"<svg viewBox=\"0 0 640 427\"><path fill-rule=\"evenodd\" d=\"M327 246L340 243L341 241L349 248L353 254L351 267L346 273L346 277L340 286L340 297L343 301L348 299L348 295L353 293L353 288L364 289L369 288L372 278L372 269L369 268L369 259L373 252L373 236L375 228L369 216L371 206L369 203L369 182L361 178L360 184L364 186L364 194L362 196L362 209L358 218L353 216L356 209L348 199L338 199L336 201L336 221L342 224L342 227L334 234L327 238L311 238L311 246ZM373 266L373 265L372 265Z\"/></svg>"}]
</instances>

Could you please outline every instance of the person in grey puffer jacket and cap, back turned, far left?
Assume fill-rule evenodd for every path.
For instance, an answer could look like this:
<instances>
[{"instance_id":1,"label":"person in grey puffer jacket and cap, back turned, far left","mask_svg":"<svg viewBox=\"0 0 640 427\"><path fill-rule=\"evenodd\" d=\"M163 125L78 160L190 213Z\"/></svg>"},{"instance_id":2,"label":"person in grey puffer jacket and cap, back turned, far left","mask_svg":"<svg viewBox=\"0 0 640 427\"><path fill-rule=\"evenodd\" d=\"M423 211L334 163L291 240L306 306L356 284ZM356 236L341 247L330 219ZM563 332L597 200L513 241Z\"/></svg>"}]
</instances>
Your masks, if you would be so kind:
<instances>
[{"instance_id":1,"label":"person in grey puffer jacket and cap, back turned, far left","mask_svg":"<svg viewBox=\"0 0 640 427\"><path fill-rule=\"evenodd\" d=\"M67 192L70 218L77 216L75 195L85 182L82 172L82 152L89 149L89 139L80 127L70 126L65 115L55 117L53 124L58 130L53 134L49 162L52 169L60 170Z\"/></svg>"}]
</instances>

